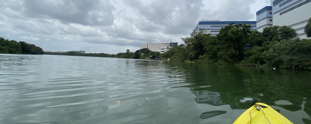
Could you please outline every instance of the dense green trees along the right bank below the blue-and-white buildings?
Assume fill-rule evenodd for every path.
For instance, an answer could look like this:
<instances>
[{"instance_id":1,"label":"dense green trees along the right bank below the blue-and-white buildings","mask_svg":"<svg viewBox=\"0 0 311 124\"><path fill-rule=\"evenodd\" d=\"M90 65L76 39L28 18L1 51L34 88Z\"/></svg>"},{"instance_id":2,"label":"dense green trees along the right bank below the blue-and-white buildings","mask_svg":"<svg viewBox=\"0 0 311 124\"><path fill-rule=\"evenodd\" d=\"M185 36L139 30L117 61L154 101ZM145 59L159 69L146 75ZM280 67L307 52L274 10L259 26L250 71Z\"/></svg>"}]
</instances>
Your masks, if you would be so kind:
<instances>
[{"instance_id":1,"label":"dense green trees along the right bank below the blue-and-white buildings","mask_svg":"<svg viewBox=\"0 0 311 124\"><path fill-rule=\"evenodd\" d=\"M196 29L184 44L163 53L172 61L311 70L311 39L297 38L289 26L265 27L263 32L231 23L217 36Z\"/></svg>"}]
</instances>

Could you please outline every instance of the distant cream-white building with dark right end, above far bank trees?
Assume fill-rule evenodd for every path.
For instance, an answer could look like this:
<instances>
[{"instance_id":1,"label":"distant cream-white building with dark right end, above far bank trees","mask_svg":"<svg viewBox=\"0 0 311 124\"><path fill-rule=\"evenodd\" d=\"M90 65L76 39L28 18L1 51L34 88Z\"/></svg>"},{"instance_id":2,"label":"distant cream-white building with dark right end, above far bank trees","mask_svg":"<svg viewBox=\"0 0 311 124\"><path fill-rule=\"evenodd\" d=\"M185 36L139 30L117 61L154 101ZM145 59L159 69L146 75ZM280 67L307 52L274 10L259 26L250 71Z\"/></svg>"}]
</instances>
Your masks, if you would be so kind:
<instances>
[{"instance_id":1,"label":"distant cream-white building with dark right end, above far bank trees","mask_svg":"<svg viewBox=\"0 0 311 124\"><path fill-rule=\"evenodd\" d=\"M164 53L168 51L168 48L172 48L174 46L178 46L178 42L170 42L170 43L151 43L147 42L145 45L140 45L140 49L148 48L154 52Z\"/></svg>"}]
</instances>

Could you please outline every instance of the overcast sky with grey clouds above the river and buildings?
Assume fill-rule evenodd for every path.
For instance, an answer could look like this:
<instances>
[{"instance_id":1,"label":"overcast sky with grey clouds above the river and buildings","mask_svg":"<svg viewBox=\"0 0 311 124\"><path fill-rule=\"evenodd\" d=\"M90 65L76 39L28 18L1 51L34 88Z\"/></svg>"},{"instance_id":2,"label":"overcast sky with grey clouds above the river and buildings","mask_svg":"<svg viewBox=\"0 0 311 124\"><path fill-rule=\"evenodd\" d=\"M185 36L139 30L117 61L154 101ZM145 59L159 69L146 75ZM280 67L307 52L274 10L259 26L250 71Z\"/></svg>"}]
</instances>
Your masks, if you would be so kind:
<instances>
[{"instance_id":1,"label":"overcast sky with grey clouds above the river and buildings","mask_svg":"<svg viewBox=\"0 0 311 124\"><path fill-rule=\"evenodd\" d=\"M256 21L270 0L0 0L0 37L43 50L135 52L183 42L201 20Z\"/></svg>"}]
</instances>

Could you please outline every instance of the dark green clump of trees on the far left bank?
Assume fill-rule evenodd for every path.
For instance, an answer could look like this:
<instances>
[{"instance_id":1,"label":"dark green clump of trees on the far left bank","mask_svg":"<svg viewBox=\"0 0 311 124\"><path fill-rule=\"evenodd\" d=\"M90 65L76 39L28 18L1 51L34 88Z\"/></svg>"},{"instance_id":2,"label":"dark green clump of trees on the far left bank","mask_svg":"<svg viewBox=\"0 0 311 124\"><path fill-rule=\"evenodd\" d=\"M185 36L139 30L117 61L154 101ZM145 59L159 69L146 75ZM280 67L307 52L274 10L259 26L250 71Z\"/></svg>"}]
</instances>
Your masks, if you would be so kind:
<instances>
[{"instance_id":1,"label":"dark green clump of trees on the far left bank","mask_svg":"<svg viewBox=\"0 0 311 124\"><path fill-rule=\"evenodd\" d=\"M34 44L28 44L24 41L17 42L0 37L0 53L43 54L43 50Z\"/></svg>"}]
</instances>

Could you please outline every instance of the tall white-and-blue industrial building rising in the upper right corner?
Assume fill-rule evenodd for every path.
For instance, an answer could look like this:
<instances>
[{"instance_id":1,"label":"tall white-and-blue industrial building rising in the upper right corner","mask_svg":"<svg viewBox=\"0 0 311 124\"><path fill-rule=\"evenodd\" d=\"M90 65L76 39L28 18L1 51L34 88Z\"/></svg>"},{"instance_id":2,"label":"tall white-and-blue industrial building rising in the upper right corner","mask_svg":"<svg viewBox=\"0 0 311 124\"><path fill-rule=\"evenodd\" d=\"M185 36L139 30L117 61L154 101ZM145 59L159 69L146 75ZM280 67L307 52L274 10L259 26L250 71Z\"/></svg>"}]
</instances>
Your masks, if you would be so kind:
<instances>
[{"instance_id":1,"label":"tall white-and-blue industrial building rising in the upper right corner","mask_svg":"<svg viewBox=\"0 0 311 124\"><path fill-rule=\"evenodd\" d=\"M272 25L290 26L297 31L300 38L307 38L304 33L304 27L311 17L311 0L271 0L270 3L272 8ZM270 8L270 6L267 7ZM261 13L262 10L256 13L257 29L262 32L262 28L264 27L261 26L264 23L261 19L263 16L260 14L258 15L258 12ZM270 15L267 17L269 17L270 20Z\"/></svg>"}]
</instances>

